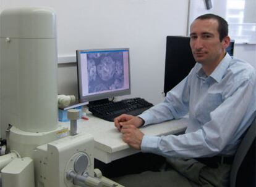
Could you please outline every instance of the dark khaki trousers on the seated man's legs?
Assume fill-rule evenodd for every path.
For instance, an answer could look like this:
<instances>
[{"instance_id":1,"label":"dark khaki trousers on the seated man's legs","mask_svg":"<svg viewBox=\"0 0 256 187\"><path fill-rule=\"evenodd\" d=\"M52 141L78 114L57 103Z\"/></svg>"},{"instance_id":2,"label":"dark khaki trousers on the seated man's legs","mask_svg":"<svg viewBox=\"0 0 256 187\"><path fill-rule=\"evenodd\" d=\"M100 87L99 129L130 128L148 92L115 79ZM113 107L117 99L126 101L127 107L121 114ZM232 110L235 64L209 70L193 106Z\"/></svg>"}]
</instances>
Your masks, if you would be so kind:
<instances>
[{"instance_id":1,"label":"dark khaki trousers on the seated man's legs","mask_svg":"<svg viewBox=\"0 0 256 187\"><path fill-rule=\"evenodd\" d=\"M142 172L113 178L126 187L226 187L231 165L211 168L195 159L168 158L160 172Z\"/></svg>"}]
</instances>

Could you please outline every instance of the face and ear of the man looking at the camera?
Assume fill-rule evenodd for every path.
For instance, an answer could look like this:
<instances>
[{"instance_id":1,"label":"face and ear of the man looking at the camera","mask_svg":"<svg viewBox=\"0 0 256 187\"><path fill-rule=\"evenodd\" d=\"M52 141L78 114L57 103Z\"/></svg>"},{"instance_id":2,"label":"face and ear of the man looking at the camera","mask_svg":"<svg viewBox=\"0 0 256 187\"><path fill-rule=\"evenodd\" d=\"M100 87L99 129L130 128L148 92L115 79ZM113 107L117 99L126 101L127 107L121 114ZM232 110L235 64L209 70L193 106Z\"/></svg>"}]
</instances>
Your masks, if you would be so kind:
<instances>
[{"instance_id":1,"label":"face and ear of the man looking at the camera","mask_svg":"<svg viewBox=\"0 0 256 187\"><path fill-rule=\"evenodd\" d=\"M192 54L195 61L203 65L218 62L228 44L228 36L220 41L218 21L215 19L195 20L190 26Z\"/></svg>"}]
</instances>

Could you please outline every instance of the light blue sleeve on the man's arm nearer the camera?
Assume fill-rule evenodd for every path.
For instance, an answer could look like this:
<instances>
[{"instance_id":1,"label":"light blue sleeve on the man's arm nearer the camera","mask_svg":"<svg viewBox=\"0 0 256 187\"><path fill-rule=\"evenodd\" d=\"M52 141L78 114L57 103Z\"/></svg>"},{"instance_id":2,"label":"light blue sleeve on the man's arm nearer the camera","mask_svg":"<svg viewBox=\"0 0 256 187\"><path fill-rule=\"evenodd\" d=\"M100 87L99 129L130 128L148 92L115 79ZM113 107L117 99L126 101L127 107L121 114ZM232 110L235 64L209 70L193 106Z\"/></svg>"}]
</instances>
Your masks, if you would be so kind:
<instances>
[{"instance_id":1,"label":"light blue sleeve on the man's arm nearer the camera","mask_svg":"<svg viewBox=\"0 0 256 187\"><path fill-rule=\"evenodd\" d=\"M227 97L210 113L211 120L195 132L162 137L144 135L142 152L166 157L210 157L220 153L237 133L239 124L249 120L246 113L251 98L255 97L254 87L255 78L227 87Z\"/></svg>"}]
</instances>

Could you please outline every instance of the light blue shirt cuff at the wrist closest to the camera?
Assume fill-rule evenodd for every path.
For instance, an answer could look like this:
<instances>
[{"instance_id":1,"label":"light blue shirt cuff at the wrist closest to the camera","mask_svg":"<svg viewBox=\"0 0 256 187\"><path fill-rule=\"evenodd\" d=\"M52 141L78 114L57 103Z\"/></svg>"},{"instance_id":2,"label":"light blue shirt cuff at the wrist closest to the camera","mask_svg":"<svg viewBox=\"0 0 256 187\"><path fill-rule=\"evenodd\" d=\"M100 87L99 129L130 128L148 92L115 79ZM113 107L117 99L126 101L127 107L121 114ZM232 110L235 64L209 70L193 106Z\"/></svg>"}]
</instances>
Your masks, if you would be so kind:
<instances>
[{"instance_id":1,"label":"light blue shirt cuff at the wrist closest to the camera","mask_svg":"<svg viewBox=\"0 0 256 187\"><path fill-rule=\"evenodd\" d=\"M160 137L153 135L144 135L140 149L143 153L158 153L158 142Z\"/></svg>"}]
</instances>

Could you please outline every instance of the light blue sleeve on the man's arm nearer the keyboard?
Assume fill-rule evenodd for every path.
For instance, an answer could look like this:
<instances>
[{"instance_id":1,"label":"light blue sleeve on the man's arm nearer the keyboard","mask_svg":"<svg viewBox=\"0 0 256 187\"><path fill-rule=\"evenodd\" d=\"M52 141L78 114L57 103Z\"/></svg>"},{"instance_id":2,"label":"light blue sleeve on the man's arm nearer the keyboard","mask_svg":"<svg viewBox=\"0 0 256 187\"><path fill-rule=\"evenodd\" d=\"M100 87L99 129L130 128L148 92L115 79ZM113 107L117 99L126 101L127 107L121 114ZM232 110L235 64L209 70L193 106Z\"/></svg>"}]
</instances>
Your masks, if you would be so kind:
<instances>
[{"instance_id":1,"label":"light blue sleeve on the man's arm nearer the keyboard","mask_svg":"<svg viewBox=\"0 0 256 187\"><path fill-rule=\"evenodd\" d=\"M183 79L166 94L163 103L159 103L139 115L144 125L156 124L185 116L189 109L189 81Z\"/></svg>"}]
</instances>

